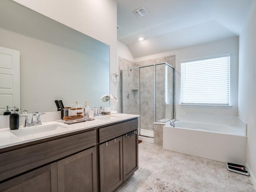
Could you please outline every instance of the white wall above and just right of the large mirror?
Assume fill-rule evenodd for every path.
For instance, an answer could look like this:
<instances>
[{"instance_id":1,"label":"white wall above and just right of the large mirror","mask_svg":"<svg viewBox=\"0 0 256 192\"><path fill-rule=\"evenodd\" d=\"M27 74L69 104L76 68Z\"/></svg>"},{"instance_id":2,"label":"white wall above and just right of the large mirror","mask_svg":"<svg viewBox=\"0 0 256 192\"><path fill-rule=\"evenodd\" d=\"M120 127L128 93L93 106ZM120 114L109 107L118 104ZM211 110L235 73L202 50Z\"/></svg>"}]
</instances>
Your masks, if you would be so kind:
<instances>
[{"instance_id":1,"label":"white wall above and just right of the large mirror","mask_svg":"<svg viewBox=\"0 0 256 192\"><path fill-rule=\"evenodd\" d=\"M118 72L117 32L114 0L14 0L36 12L110 45L110 76ZM110 81L110 93L117 95L118 85Z\"/></svg>"}]
</instances>

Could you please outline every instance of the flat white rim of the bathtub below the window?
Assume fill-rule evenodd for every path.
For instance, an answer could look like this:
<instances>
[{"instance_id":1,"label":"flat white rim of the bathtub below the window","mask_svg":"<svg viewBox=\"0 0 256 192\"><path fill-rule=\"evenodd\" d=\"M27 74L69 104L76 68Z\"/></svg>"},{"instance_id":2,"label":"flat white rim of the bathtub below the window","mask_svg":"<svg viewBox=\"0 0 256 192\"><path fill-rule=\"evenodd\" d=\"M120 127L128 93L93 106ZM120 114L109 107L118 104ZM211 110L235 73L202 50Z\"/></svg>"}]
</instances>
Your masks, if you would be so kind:
<instances>
[{"instance_id":1,"label":"flat white rim of the bathtub below the window","mask_svg":"<svg viewBox=\"0 0 256 192\"><path fill-rule=\"evenodd\" d=\"M195 122L195 121L183 121L181 120L180 122L186 122L186 123L198 123L198 124L210 124L210 125L214 125L214 126L226 126L228 128L234 128L234 129L243 129L241 127L233 127L233 126L228 126L228 125L222 125L222 124L213 124L213 123L204 123L204 122ZM211 133L218 133L218 134L227 134L227 135L235 135L235 136L244 136L244 137L247 137L246 136L246 130L244 130L244 133L243 134L232 134L232 133L224 133L224 132L217 132L217 131L209 131L209 130L198 130L198 129L191 129L191 128L183 128L183 127L178 127L178 126L171 126L170 124L166 124L165 127L171 127L171 128L179 128L179 129L185 129L185 130L195 130L195 131L203 131L203 132L211 132Z\"/></svg>"}]
</instances>

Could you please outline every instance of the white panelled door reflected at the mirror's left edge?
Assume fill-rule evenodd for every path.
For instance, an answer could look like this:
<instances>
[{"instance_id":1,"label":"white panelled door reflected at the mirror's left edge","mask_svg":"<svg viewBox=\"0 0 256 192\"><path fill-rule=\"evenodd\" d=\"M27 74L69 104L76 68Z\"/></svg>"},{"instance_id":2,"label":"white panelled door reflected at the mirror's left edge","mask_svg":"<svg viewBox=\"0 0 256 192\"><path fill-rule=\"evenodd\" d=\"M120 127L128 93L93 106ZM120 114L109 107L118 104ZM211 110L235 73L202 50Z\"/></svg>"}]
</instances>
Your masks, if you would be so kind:
<instances>
[{"instance_id":1,"label":"white panelled door reflected at the mirror's left edge","mask_svg":"<svg viewBox=\"0 0 256 192\"><path fill-rule=\"evenodd\" d=\"M20 108L20 52L0 47L0 115Z\"/></svg>"}]
</instances>

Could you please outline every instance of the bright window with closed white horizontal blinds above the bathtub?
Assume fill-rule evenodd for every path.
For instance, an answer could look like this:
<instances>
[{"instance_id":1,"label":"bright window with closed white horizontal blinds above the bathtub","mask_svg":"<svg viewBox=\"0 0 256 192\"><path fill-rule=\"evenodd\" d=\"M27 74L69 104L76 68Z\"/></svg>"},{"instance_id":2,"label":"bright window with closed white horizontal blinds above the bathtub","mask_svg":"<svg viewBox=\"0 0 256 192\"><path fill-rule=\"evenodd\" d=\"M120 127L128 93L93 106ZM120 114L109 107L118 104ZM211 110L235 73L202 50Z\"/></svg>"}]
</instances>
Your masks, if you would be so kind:
<instances>
[{"instance_id":1,"label":"bright window with closed white horizontal blinds above the bathtub","mask_svg":"<svg viewBox=\"0 0 256 192\"><path fill-rule=\"evenodd\" d=\"M230 56L181 62L180 104L230 106Z\"/></svg>"}]
</instances>

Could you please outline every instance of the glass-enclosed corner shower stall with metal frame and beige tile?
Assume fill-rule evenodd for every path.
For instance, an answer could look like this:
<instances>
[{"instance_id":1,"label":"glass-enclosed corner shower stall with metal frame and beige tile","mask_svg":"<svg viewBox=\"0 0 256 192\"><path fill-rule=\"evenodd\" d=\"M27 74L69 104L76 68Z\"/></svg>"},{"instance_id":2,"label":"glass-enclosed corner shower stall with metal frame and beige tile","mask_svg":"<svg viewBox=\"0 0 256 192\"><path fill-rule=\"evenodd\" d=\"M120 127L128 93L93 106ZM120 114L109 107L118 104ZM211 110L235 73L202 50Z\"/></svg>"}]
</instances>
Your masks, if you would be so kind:
<instances>
[{"instance_id":1,"label":"glass-enclosed corner shower stall with metal frame and beige tile","mask_svg":"<svg viewBox=\"0 0 256 192\"><path fill-rule=\"evenodd\" d=\"M154 137L154 123L174 118L174 68L168 63L121 70L122 113L138 114L139 134Z\"/></svg>"}]
</instances>

